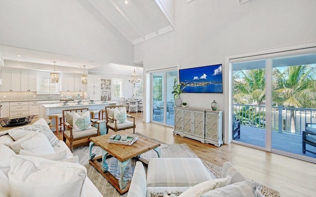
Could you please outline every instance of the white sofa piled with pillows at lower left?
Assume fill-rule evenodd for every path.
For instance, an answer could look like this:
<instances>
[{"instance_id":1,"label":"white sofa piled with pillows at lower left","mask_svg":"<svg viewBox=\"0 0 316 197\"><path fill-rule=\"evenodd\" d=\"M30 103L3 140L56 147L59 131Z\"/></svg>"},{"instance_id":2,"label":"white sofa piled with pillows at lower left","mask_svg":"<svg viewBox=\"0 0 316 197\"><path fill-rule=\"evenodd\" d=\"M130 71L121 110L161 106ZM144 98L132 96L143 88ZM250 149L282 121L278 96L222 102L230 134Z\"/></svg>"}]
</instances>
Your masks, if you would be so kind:
<instances>
[{"instance_id":1,"label":"white sofa piled with pillows at lower left","mask_svg":"<svg viewBox=\"0 0 316 197\"><path fill-rule=\"evenodd\" d=\"M0 131L0 197L102 197L44 119L23 128Z\"/></svg>"}]
</instances>

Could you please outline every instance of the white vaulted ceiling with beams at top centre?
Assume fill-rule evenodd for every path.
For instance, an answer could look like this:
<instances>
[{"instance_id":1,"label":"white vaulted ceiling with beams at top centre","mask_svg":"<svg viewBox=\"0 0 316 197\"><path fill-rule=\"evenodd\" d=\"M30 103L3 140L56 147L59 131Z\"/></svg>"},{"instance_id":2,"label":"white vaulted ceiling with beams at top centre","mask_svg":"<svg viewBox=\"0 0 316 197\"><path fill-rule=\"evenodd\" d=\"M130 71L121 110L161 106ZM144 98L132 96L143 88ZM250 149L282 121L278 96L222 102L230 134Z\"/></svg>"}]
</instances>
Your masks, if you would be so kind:
<instances>
[{"instance_id":1,"label":"white vaulted ceiling with beams at top centre","mask_svg":"<svg viewBox=\"0 0 316 197\"><path fill-rule=\"evenodd\" d=\"M173 30L174 21L160 0L87 0L86 9L100 13L132 44ZM104 17L104 19L102 19Z\"/></svg>"}]
</instances>

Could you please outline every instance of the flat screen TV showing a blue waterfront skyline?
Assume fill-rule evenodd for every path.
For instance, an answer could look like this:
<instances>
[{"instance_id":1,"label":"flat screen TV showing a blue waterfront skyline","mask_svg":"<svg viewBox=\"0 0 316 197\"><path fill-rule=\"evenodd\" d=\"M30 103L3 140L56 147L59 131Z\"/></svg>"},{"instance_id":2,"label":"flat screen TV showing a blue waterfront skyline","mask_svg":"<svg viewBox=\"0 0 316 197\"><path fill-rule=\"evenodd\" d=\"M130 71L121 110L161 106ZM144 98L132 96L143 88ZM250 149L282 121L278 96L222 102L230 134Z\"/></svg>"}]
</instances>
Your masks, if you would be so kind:
<instances>
[{"instance_id":1,"label":"flat screen TV showing a blue waterfront skyline","mask_svg":"<svg viewBox=\"0 0 316 197\"><path fill-rule=\"evenodd\" d=\"M180 69L179 81L184 93L223 93L222 65Z\"/></svg>"}]
</instances>

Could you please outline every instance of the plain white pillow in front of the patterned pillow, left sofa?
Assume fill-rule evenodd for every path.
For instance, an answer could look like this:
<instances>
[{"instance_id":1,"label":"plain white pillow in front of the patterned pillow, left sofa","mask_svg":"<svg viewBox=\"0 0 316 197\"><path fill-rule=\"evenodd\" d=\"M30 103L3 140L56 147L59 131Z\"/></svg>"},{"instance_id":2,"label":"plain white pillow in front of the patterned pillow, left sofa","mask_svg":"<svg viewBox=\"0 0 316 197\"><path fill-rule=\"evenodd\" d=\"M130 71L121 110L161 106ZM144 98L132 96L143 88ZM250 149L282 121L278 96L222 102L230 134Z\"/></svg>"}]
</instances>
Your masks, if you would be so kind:
<instances>
[{"instance_id":1,"label":"plain white pillow in front of the patterned pillow, left sofa","mask_svg":"<svg viewBox=\"0 0 316 197\"><path fill-rule=\"evenodd\" d=\"M22 144L22 149L30 151L35 154L54 154L55 151L48 139L43 133L38 133L32 138L24 141Z\"/></svg>"}]
</instances>

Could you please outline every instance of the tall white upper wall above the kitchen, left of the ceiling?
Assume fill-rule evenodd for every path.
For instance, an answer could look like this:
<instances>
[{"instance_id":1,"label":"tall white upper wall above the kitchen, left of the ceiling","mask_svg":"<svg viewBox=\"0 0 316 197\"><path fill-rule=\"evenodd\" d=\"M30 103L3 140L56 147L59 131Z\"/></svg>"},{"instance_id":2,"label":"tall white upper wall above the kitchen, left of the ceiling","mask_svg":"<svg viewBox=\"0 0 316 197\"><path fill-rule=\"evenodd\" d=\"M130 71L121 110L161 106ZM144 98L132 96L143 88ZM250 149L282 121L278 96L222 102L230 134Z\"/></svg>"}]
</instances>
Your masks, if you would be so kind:
<instances>
[{"instance_id":1,"label":"tall white upper wall above the kitchen, left of the ceiling","mask_svg":"<svg viewBox=\"0 0 316 197\"><path fill-rule=\"evenodd\" d=\"M1 0L0 44L102 62L133 64L133 46L82 0Z\"/></svg>"}]
</instances>

